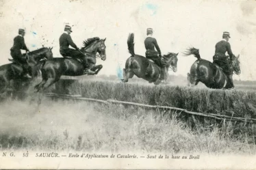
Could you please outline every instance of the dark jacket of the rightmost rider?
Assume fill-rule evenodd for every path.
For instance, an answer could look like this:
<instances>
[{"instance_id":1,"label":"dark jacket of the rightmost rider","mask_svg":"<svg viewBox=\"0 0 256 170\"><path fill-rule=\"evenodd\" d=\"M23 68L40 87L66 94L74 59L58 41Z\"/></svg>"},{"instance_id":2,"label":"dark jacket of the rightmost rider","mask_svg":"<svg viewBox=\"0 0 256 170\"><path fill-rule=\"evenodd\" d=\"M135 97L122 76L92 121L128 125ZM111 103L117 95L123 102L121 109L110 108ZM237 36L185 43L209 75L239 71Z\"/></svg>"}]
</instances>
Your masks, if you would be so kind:
<instances>
[{"instance_id":1,"label":"dark jacket of the rightmost rider","mask_svg":"<svg viewBox=\"0 0 256 170\"><path fill-rule=\"evenodd\" d=\"M218 42L215 46L215 55L218 55L219 57L226 57L225 53L229 54L229 57L232 59L233 53L231 51L231 46L229 42L227 42L225 39Z\"/></svg>"}]
</instances>

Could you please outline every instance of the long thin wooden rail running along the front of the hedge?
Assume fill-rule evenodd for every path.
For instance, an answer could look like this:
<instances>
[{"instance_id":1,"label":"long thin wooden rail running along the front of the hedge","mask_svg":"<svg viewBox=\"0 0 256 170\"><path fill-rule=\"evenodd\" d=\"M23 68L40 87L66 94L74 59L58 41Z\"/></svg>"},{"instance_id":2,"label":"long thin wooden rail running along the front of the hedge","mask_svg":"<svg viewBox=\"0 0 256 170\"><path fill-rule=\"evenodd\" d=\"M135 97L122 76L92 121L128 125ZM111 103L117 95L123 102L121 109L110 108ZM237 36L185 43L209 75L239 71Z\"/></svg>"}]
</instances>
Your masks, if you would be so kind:
<instances>
[{"instance_id":1,"label":"long thin wooden rail running along the front of the hedge","mask_svg":"<svg viewBox=\"0 0 256 170\"><path fill-rule=\"evenodd\" d=\"M187 111L186 109L180 109L177 107L165 107L165 106L153 106L149 104L140 104L136 102L125 102L125 101L118 101L118 100L98 100L93 98L84 98L79 95L67 95L67 94L53 94L48 93L46 96L54 97L54 98L66 98L66 99L72 99L72 100L84 100L84 101L91 101L91 102L100 102L103 104L123 104L123 105L131 105L136 107L142 107L146 109L164 109L164 110L172 110L172 111L179 111L181 113L187 113L190 115L198 115L202 117L210 117L213 119L219 119L219 120L226 120L226 121L233 121L233 122L251 122L253 124L256 123L256 119L253 118L245 118L245 117L233 117L228 115L218 115L214 113L198 113L194 111Z\"/></svg>"}]
</instances>

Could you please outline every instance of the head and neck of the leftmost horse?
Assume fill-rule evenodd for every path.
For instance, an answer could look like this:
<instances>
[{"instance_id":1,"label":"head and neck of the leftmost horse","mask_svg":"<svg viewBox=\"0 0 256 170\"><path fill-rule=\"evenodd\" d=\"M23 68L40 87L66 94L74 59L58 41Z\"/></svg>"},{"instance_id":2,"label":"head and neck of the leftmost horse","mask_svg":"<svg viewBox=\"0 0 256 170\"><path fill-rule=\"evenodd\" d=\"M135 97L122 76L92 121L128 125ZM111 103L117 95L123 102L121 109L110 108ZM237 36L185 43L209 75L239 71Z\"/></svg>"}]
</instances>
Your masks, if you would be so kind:
<instances>
[{"instance_id":1,"label":"head and neck of the leftmost horse","mask_svg":"<svg viewBox=\"0 0 256 170\"><path fill-rule=\"evenodd\" d=\"M36 51L32 51L28 53L27 55L27 63L29 65L36 65L40 59L52 59L53 58L53 52L51 51L52 48L42 47L39 48Z\"/></svg>"}]
</instances>

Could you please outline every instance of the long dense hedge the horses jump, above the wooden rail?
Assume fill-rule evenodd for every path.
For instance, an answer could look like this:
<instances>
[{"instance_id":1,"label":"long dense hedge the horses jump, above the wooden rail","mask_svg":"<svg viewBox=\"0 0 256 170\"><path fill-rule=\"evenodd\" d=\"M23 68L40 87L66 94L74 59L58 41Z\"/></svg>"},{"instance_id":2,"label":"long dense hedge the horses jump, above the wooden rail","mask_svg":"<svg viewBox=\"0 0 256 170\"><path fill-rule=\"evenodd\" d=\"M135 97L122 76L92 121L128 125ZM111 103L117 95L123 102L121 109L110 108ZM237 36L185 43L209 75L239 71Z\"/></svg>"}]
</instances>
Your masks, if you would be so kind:
<instances>
[{"instance_id":1,"label":"long dense hedge the horses jump, above the wooden rail","mask_svg":"<svg viewBox=\"0 0 256 170\"><path fill-rule=\"evenodd\" d=\"M68 90L68 91L67 91ZM168 85L123 84L112 81L61 80L56 93L179 107L188 111L256 117L256 91L205 89Z\"/></svg>"}]
</instances>

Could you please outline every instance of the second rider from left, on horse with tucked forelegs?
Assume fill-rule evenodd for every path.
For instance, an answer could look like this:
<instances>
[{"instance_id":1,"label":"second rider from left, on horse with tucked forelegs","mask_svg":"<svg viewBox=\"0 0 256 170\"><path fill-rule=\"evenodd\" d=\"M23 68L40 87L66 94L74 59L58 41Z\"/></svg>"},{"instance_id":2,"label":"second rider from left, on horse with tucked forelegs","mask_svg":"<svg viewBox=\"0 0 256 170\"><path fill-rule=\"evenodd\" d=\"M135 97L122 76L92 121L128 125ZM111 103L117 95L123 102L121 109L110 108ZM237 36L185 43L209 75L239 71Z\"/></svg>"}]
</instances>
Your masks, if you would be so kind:
<instances>
[{"instance_id":1,"label":"second rider from left, on horse with tucked forelegs","mask_svg":"<svg viewBox=\"0 0 256 170\"><path fill-rule=\"evenodd\" d=\"M79 51L79 48L77 47L77 45L73 42L70 34L71 34L72 30L71 27L66 25L65 29L64 29L64 33L62 33L62 35L60 36L60 54L63 57L73 57L75 59L82 59L84 57L84 53L82 53L81 51ZM72 48L68 48L68 46L71 45L74 49ZM84 74L94 74L95 72L93 72L92 70L90 70L89 66L88 66L88 61L87 59L82 59L83 61L83 65L84 65Z\"/></svg>"}]
</instances>

